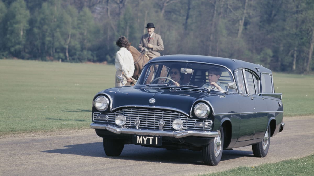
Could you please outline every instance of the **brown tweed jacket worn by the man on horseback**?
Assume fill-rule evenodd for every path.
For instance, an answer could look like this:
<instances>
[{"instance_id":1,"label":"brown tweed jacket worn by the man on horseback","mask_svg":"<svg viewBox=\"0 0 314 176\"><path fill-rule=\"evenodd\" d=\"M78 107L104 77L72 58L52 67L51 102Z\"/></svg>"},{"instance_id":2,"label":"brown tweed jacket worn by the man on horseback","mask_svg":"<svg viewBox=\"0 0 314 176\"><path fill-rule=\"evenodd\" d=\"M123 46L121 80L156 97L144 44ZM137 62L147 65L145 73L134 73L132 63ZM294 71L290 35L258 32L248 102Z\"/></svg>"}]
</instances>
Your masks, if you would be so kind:
<instances>
[{"instance_id":1,"label":"brown tweed jacket worn by the man on horseback","mask_svg":"<svg viewBox=\"0 0 314 176\"><path fill-rule=\"evenodd\" d=\"M152 44L153 48L148 48L148 44ZM139 41L138 48L142 50L142 48L147 48L148 52L147 55L151 58L155 58L160 56L158 51L164 50L164 42L162 41L160 35L154 33L148 43L148 34L142 36L141 40Z\"/></svg>"}]
</instances>

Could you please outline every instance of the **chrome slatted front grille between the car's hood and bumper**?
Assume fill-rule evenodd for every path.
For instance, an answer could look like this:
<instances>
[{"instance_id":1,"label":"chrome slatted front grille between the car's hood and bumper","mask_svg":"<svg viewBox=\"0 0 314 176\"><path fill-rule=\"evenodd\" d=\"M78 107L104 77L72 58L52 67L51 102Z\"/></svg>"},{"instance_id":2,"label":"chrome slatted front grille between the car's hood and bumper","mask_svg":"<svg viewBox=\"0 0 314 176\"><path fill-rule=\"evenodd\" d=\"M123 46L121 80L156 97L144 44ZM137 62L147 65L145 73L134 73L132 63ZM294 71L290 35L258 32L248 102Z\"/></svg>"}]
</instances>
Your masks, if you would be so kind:
<instances>
[{"instance_id":1,"label":"chrome slatted front grille between the car's hood and bumper","mask_svg":"<svg viewBox=\"0 0 314 176\"><path fill-rule=\"evenodd\" d=\"M201 131L209 131L212 127L211 120L190 119L187 116L174 111L150 110L150 109L122 109L114 113L94 112L94 122L106 122L108 124L116 125L115 118L118 115L126 117L126 123L123 127L136 127L134 121L140 120L139 129L159 129L158 122L160 120L165 122L163 130L175 130L172 127L173 120L179 118L183 121L183 129L194 129ZM106 117L106 120L104 119ZM195 122L207 122L207 127L196 127Z\"/></svg>"}]
</instances>

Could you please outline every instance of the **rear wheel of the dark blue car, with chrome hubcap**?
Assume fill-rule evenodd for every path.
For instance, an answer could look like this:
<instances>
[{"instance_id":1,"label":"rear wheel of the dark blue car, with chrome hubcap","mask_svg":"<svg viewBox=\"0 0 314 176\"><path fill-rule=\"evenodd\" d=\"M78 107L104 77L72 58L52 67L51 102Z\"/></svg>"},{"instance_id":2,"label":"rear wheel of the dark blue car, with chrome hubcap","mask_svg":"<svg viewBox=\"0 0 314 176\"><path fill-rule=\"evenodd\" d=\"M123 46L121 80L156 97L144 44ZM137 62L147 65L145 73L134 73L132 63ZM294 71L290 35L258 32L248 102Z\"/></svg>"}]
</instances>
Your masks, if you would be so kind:
<instances>
[{"instance_id":1,"label":"rear wheel of the dark blue car, with chrome hubcap","mask_svg":"<svg viewBox=\"0 0 314 176\"><path fill-rule=\"evenodd\" d=\"M258 158L266 157L270 144L270 127L267 128L263 140L258 144L252 145L253 155Z\"/></svg>"}]
</instances>

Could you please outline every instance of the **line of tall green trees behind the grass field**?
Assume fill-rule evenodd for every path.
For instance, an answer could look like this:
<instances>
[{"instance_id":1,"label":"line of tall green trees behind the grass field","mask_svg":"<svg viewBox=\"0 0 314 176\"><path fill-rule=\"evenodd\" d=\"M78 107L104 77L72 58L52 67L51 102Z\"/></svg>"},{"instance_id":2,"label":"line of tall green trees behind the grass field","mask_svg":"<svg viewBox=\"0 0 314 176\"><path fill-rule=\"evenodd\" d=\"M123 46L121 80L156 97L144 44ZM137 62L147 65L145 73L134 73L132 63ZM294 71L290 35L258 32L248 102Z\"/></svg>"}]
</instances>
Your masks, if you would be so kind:
<instances>
[{"instance_id":1,"label":"line of tall green trees behind the grass field","mask_svg":"<svg viewBox=\"0 0 314 176\"><path fill-rule=\"evenodd\" d=\"M114 63L116 39L137 48L154 23L164 55L310 73L313 9L312 0L0 0L0 59Z\"/></svg>"}]
</instances>

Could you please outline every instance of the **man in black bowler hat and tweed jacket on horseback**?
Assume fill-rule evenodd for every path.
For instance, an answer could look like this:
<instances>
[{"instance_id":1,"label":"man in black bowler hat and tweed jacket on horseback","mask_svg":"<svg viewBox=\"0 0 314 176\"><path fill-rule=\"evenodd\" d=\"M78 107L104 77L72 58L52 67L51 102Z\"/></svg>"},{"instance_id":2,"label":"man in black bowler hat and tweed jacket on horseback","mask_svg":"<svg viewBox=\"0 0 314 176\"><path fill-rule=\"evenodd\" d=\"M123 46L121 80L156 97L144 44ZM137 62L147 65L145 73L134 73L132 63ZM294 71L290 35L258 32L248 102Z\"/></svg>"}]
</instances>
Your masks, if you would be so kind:
<instances>
[{"instance_id":1,"label":"man in black bowler hat and tweed jacket on horseback","mask_svg":"<svg viewBox=\"0 0 314 176\"><path fill-rule=\"evenodd\" d=\"M153 23L147 23L147 34L144 34L139 41L138 48L143 51L147 48L147 56L149 60L160 56L158 51L164 50L164 42L162 41L160 35L154 33L155 27Z\"/></svg>"}]
</instances>

